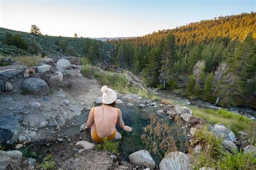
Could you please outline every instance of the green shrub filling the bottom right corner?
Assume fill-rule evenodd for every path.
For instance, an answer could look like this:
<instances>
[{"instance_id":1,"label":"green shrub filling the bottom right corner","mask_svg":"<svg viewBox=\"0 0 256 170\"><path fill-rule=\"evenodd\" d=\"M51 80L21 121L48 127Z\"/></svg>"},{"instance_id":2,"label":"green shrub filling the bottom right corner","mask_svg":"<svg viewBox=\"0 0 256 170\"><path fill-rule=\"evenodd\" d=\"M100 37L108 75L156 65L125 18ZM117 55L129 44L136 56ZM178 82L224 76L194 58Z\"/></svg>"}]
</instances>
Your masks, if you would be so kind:
<instances>
[{"instance_id":1,"label":"green shrub filling the bottom right corner","mask_svg":"<svg viewBox=\"0 0 256 170\"><path fill-rule=\"evenodd\" d=\"M243 153L240 150L235 154L226 153L219 165L220 169L255 169L256 158L254 153Z\"/></svg>"}]
</instances>

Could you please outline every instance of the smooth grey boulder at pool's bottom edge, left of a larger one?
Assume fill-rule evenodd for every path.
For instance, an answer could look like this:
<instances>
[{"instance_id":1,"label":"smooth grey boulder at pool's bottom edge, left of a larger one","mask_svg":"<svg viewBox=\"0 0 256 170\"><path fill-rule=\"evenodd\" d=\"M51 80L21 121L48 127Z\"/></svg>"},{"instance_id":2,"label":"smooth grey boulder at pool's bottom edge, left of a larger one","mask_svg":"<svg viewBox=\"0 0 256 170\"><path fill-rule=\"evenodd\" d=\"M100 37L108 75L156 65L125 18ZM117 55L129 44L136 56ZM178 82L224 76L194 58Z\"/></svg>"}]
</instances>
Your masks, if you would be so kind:
<instances>
[{"instance_id":1,"label":"smooth grey boulder at pool's bottom edge, left of a larger one","mask_svg":"<svg viewBox=\"0 0 256 170\"><path fill-rule=\"evenodd\" d=\"M154 169L156 163L152 159L150 153L146 150L140 150L129 155L129 160L134 165L146 166L147 168Z\"/></svg>"}]
</instances>

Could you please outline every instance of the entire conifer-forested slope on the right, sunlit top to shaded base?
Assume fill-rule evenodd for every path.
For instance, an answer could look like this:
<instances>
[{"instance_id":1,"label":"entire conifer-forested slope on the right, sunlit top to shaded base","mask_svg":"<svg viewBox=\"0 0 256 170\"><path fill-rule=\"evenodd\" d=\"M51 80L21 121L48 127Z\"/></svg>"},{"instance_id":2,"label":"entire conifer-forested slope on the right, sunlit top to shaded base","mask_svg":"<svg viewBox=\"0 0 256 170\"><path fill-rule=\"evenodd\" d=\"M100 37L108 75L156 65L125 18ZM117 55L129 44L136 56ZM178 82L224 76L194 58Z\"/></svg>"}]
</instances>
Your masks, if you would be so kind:
<instances>
[{"instance_id":1,"label":"entire conifer-forested slope on the right, sunlit top to shaded base","mask_svg":"<svg viewBox=\"0 0 256 170\"><path fill-rule=\"evenodd\" d=\"M142 72L147 86L256 108L255 18L241 13L107 42L116 47L116 65Z\"/></svg>"}]
</instances>

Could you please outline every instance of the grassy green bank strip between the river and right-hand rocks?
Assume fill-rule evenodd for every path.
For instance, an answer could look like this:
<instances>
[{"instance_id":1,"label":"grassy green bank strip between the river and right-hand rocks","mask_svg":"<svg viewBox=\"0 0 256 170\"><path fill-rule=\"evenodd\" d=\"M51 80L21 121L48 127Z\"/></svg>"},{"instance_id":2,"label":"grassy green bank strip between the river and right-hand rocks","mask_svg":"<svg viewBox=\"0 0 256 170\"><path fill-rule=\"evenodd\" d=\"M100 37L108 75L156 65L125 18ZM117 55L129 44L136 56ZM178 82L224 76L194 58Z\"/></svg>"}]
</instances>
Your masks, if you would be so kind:
<instances>
[{"instance_id":1,"label":"grassy green bank strip between the river and right-hand rocks","mask_svg":"<svg viewBox=\"0 0 256 170\"><path fill-rule=\"evenodd\" d=\"M194 116L205 119L205 121L212 124L224 124L230 128L235 134L238 131L245 131L254 137L254 128L256 123L251 119L235 114L234 112L220 109L218 111L212 109L202 109L191 106L190 109L193 111Z\"/></svg>"}]
</instances>

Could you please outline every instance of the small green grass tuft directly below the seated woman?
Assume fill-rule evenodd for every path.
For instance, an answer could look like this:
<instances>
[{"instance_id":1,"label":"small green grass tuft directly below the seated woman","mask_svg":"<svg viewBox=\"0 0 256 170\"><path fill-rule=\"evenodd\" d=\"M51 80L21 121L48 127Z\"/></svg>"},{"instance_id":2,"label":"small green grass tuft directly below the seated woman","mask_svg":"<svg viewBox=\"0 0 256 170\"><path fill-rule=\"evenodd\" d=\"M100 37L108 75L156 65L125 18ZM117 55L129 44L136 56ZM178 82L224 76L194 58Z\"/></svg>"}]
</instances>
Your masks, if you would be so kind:
<instances>
[{"instance_id":1,"label":"small green grass tuft directly below the seated woman","mask_svg":"<svg viewBox=\"0 0 256 170\"><path fill-rule=\"evenodd\" d=\"M113 154L119 155L118 143L116 141L104 138L103 142L95 146L96 150L105 150Z\"/></svg>"}]
</instances>

